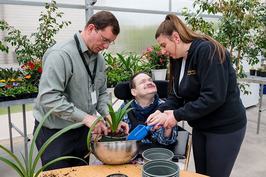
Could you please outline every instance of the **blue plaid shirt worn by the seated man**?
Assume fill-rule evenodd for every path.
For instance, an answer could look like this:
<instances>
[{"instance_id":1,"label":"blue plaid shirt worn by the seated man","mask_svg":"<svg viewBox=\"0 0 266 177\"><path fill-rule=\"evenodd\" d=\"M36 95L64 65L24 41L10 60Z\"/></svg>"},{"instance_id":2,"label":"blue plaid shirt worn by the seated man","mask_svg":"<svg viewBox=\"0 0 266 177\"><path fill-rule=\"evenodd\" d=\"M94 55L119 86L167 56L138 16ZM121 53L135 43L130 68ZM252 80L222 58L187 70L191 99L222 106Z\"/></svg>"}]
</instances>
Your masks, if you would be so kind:
<instances>
[{"instance_id":1,"label":"blue plaid shirt worn by the seated man","mask_svg":"<svg viewBox=\"0 0 266 177\"><path fill-rule=\"evenodd\" d=\"M154 101L154 99L153 99L153 101ZM135 102L137 103L136 100L135 100ZM159 99L158 105L163 103L163 102L164 102L163 100ZM153 104L153 102L151 104ZM126 105L126 103L121 104L120 109L122 109L125 105ZM140 104L138 104L138 103L137 103L137 105L140 106ZM146 108L146 107L144 107L144 108ZM116 112L115 112L115 114L116 114ZM126 122L129 125L129 130L131 129L131 122L130 122L127 114L122 118L121 121ZM172 138L168 138L166 135L163 134L164 127L161 127L158 130L150 130L150 132L152 132L151 137L154 138L155 140L157 140L160 144L163 144L163 145L172 144L172 143L176 142L177 124L172 129L173 129ZM122 129L121 129L121 131L122 131ZM147 138L143 138L142 142L152 143Z\"/></svg>"}]
</instances>

